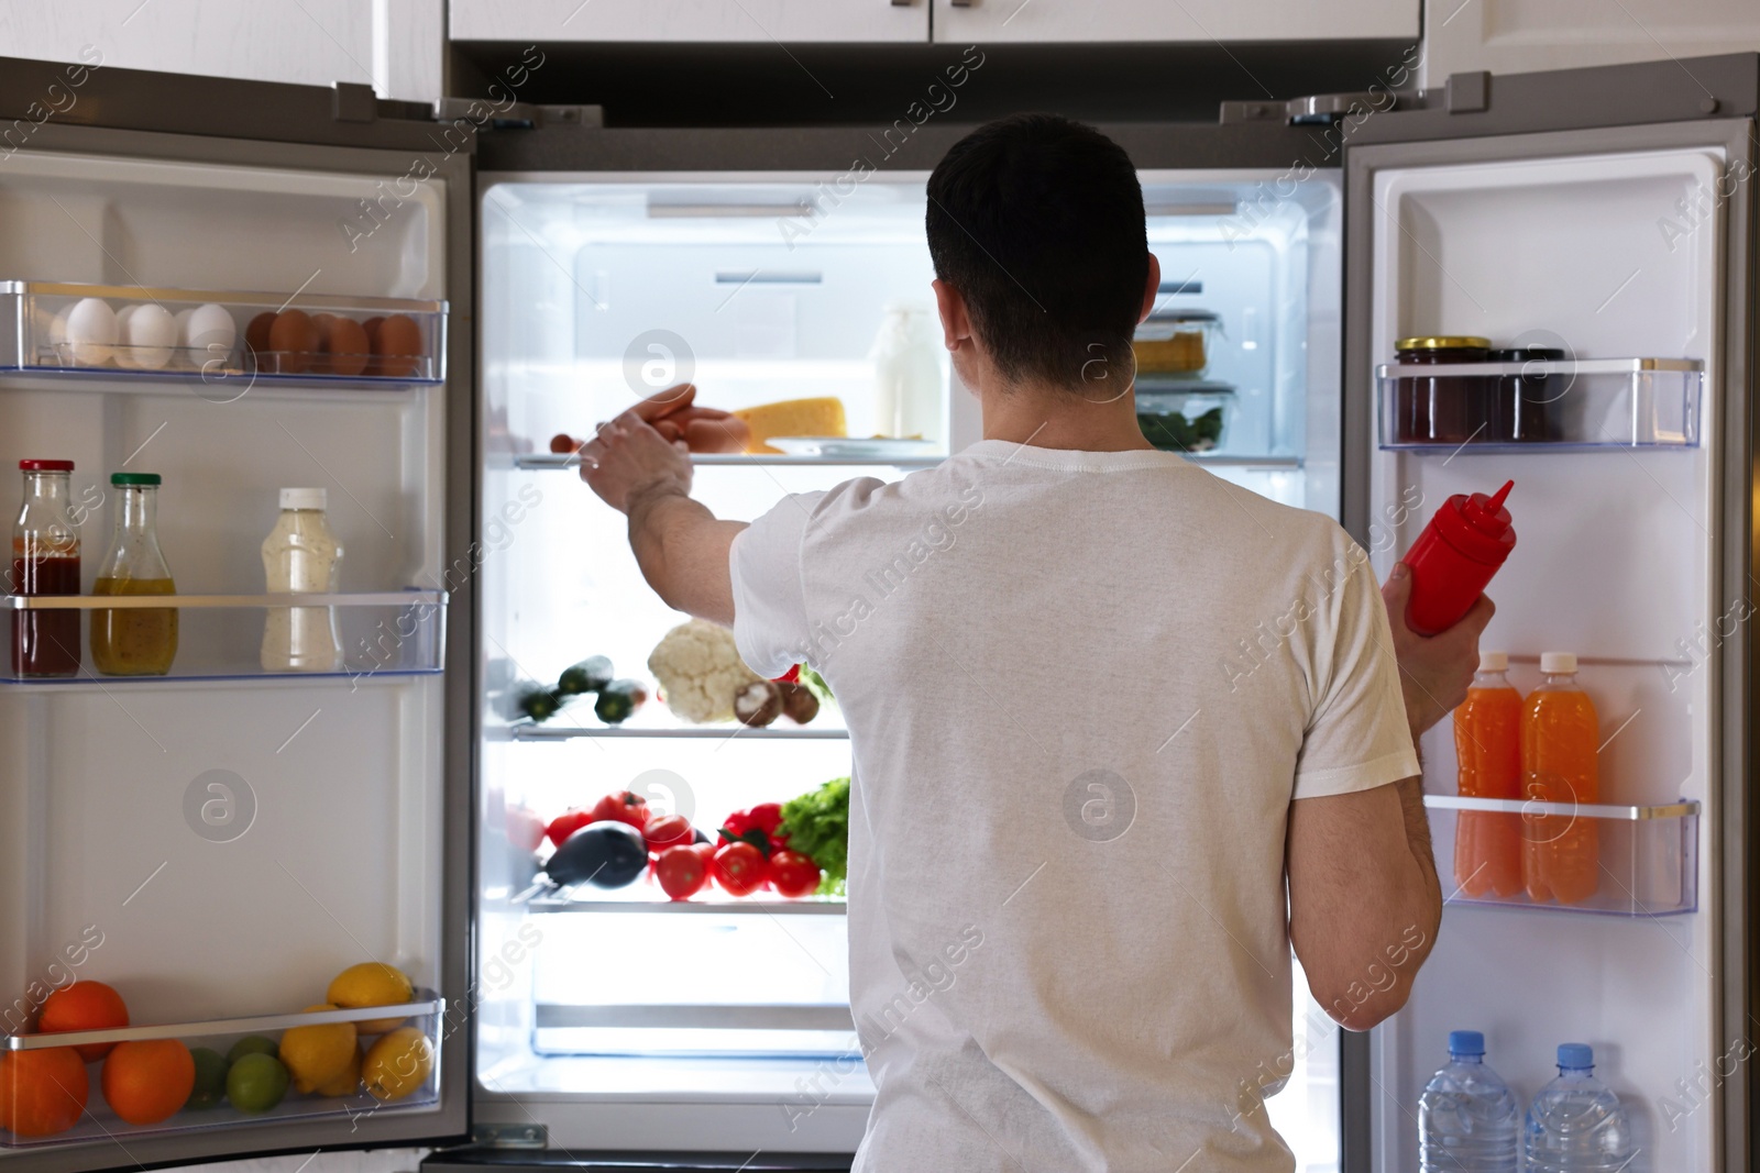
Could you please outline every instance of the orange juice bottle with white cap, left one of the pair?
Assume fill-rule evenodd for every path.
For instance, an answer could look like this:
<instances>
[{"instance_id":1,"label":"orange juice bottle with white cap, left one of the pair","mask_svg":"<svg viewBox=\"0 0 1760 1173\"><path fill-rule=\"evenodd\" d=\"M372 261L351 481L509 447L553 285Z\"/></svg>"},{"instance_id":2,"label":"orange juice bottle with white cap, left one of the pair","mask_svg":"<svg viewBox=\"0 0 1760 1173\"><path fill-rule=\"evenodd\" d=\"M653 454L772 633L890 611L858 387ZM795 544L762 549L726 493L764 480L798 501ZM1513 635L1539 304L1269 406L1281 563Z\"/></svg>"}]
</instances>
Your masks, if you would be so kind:
<instances>
[{"instance_id":1,"label":"orange juice bottle with white cap, left one of the pair","mask_svg":"<svg viewBox=\"0 0 1760 1173\"><path fill-rule=\"evenodd\" d=\"M1505 652L1480 652L1466 703L1454 710L1459 793L1521 798L1522 695L1505 672ZM1461 811L1454 830L1454 883L1470 897L1514 897L1522 890L1521 816Z\"/></svg>"}]
</instances>

